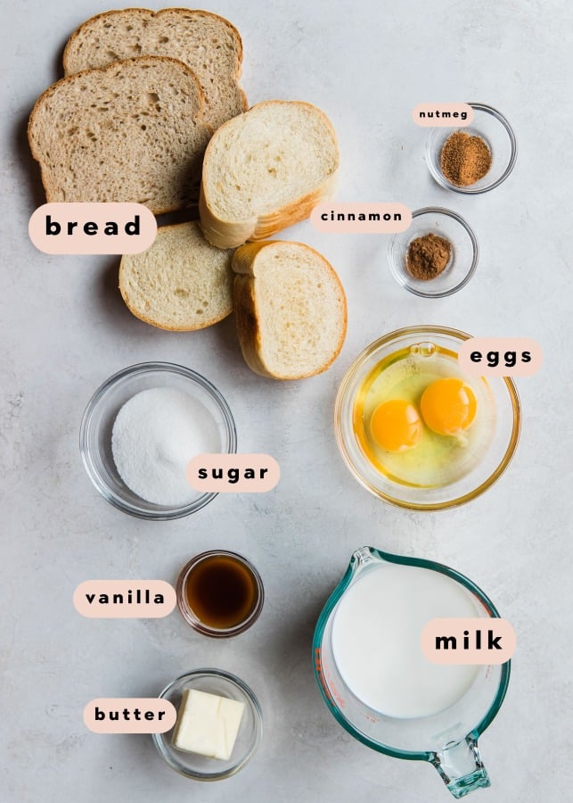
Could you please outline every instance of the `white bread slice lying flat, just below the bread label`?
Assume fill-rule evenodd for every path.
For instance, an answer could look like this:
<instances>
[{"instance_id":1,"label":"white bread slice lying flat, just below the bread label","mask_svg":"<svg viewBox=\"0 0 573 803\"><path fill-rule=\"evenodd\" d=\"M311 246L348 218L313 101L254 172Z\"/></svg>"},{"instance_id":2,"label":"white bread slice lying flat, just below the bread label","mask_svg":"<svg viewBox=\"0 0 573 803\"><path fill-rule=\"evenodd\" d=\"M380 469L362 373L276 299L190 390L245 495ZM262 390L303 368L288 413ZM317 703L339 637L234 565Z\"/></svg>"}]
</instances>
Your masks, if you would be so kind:
<instances>
[{"instance_id":1,"label":"white bread slice lying flat, just below the bread label","mask_svg":"<svg viewBox=\"0 0 573 803\"><path fill-rule=\"evenodd\" d=\"M233 310L232 256L209 245L198 223L165 226L147 251L121 258L119 290L135 317L153 327L210 327Z\"/></svg>"}]
</instances>

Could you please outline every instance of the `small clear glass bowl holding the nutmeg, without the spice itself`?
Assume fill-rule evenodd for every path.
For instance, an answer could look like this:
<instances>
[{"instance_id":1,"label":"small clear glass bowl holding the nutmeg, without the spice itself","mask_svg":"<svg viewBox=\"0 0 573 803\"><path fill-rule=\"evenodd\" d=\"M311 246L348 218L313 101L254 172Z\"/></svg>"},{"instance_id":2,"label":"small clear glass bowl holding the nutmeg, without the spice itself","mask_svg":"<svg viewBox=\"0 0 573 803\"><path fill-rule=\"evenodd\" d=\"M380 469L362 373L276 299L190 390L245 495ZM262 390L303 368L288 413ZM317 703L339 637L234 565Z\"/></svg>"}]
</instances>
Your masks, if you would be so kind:
<instances>
[{"instance_id":1,"label":"small clear glass bowl holding the nutmeg, without the spice itself","mask_svg":"<svg viewBox=\"0 0 573 803\"><path fill-rule=\"evenodd\" d=\"M474 112L471 125L462 128L432 128L426 145L426 161L430 173L440 186L464 195L480 195L487 193L505 181L513 170L517 158L517 139L512 126L491 106L483 103L469 103ZM459 186L447 180L442 172L442 148L447 137L455 130L464 131L470 136L485 140L491 153L491 167L483 178L475 184Z\"/></svg>"}]
</instances>

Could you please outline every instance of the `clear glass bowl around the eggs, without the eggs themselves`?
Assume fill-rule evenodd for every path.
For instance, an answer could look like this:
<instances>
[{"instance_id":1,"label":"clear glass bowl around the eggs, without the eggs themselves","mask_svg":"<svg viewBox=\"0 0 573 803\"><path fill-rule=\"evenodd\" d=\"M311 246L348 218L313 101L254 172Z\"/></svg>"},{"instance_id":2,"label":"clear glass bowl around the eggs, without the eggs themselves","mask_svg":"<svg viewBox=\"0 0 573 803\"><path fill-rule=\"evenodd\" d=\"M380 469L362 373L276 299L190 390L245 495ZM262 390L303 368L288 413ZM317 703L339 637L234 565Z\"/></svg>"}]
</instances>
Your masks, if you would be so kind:
<instances>
[{"instance_id":1,"label":"clear glass bowl around the eggs, without the eggs themselves","mask_svg":"<svg viewBox=\"0 0 573 803\"><path fill-rule=\"evenodd\" d=\"M366 490L381 500L410 510L442 510L454 508L484 493L502 476L517 447L520 436L520 400L509 377L487 377L491 394L494 427L487 450L479 462L462 476L448 484L420 486L398 482L383 474L366 457L356 437L354 416L356 399L364 380L381 360L403 349L414 348L417 353L431 354L428 348L459 352L471 335L446 327L421 326L398 329L370 344L359 354L342 379L334 410L334 432L342 459L350 473Z\"/></svg>"}]
</instances>

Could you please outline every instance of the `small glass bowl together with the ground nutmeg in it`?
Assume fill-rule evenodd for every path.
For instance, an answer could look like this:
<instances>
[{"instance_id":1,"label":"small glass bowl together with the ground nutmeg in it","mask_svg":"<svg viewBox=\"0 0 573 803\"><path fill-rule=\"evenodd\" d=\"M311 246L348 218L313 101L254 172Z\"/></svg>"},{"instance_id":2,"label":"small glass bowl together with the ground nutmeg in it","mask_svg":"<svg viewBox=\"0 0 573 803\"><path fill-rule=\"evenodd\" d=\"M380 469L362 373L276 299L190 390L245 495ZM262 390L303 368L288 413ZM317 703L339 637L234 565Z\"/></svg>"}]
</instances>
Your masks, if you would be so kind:
<instances>
[{"instance_id":1,"label":"small glass bowl together with the ground nutmeg in it","mask_svg":"<svg viewBox=\"0 0 573 803\"><path fill-rule=\"evenodd\" d=\"M480 195L510 175L517 139L510 123L492 106L469 103L473 120L459 129L432 128L426 161L440 186L464 195Z\"/></svg>"}]
</instances>

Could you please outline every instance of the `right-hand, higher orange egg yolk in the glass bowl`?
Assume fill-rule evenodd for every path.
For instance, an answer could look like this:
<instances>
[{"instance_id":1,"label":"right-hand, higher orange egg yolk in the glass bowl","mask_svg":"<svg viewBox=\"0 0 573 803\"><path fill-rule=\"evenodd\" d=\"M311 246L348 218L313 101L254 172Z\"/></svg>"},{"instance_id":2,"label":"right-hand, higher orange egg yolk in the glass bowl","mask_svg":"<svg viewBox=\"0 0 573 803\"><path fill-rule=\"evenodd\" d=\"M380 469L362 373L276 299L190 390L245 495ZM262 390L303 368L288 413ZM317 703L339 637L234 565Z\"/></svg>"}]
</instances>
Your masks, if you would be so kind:
<instances>
[{"instance_id":1,"label":"right-hand, higher orange egg yolk in the glass bowl","mask_svg":"<svg viewBox=\"0 0 573 803\"><path fill-rule=\"evenodd\" d=\"M438 435L459 435L476 417L478 402L462 379L436 379L422 393L420 410L426 426Z\"/></svg>"}]
</instances>

